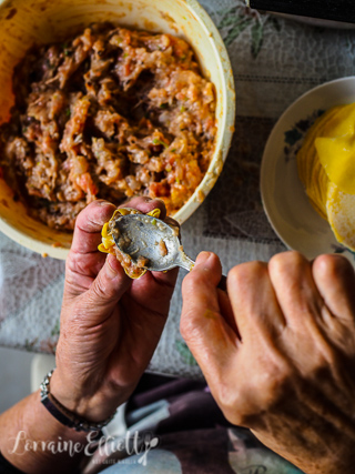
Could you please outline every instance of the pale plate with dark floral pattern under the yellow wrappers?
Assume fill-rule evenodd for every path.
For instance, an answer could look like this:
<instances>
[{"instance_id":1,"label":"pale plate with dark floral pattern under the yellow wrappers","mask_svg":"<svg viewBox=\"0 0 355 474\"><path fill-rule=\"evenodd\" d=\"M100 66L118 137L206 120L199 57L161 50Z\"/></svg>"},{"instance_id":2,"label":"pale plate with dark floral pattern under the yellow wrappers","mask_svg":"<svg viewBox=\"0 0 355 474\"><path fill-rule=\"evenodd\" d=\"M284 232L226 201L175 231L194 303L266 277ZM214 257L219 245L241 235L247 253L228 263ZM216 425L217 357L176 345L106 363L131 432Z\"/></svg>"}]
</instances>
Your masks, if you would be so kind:
<instances>
[{"instance_id":1,"label":"pale plate with dark floral pattern under the yellow wrappers","mask_svg":"<svg viewBox=\"0 0 355 474\"><path fill-rule=\"evenodd\" d=\"M336 241L329 224L310 203L296 163L296 152L320 111L352 102L355 77L312 89L283 113L264 150L261 194L266 215L284 244L308 259L336 252L354 263L354 254Z\"/></svg>"}]
</instances>

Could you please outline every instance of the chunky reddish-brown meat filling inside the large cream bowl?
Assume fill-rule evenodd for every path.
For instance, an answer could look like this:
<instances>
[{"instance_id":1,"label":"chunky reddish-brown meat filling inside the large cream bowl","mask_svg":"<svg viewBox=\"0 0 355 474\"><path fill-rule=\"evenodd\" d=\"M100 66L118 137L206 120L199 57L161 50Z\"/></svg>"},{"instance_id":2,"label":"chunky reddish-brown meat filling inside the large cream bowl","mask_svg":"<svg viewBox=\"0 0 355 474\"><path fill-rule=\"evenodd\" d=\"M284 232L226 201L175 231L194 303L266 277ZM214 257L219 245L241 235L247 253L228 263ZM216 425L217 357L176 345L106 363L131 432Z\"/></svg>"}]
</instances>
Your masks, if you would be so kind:
<instances>
[{"instance_id":1,"label":"chunky reddish-brown meat filling inside the large cream bowl","mask_svg":"<svg viewBox=\"0 0 355 474\"><path fill-rule=\"evenodd\" d=\"M213 154L214 87L182 39L92 24L32 48L0 128L4 178L50 228L72 230L91 201L160 198L174 214Z\"/></svg>"}]
</instances>

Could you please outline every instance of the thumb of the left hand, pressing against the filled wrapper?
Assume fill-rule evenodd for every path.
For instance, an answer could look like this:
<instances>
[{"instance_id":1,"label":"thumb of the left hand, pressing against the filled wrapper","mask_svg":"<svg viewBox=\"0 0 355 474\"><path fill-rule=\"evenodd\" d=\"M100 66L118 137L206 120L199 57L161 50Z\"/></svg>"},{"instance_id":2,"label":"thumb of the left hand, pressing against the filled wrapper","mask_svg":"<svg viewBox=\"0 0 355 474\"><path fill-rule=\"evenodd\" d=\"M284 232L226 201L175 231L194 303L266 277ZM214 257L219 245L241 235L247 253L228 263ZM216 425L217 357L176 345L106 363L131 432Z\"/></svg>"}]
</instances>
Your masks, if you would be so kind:
<instances>
[{"instance_id":1,"label":"thumb of the left hand, pressing against the filled wrapper","mask_svg":"<svg viewBox=\"0 0 355 474\"><path fill-rule=\"evenodd\" d=\"M131 284L132 280L120 262L108 255L98 276L82 295L87 305L87 323L97 325L105 321Z\"/></svg>"}]
</instances>

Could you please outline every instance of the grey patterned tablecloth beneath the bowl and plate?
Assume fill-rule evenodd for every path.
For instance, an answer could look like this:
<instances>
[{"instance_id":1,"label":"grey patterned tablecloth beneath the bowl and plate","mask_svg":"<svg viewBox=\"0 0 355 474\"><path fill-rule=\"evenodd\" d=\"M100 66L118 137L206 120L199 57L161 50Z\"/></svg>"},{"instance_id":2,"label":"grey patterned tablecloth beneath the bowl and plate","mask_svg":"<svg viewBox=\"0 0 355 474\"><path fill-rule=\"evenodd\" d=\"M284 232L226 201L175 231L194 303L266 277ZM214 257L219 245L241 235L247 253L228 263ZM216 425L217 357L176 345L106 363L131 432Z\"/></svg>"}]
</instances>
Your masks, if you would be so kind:
<instances>
[{"instance_id":1,"label":"grey patterned tablecloth beneath the bowl and plate","mask_svg":"<svg viewBox=\"0 0 355 474\"><path fill-rule=\"evenodd\" d=\"M355 30L322 29L260 14L240 0L203 0L229 48L236 87L236 132L214 190L183 228L186 252L216 252L224 273L267 261L285 248L263 212L258 174L267 137L302 93L355 73ZM181 271L170 317L150 370L200 377L180 331ZM64 263L0 234L0 345L51 353L59 335Z\"/></svg>"}]
</instances>

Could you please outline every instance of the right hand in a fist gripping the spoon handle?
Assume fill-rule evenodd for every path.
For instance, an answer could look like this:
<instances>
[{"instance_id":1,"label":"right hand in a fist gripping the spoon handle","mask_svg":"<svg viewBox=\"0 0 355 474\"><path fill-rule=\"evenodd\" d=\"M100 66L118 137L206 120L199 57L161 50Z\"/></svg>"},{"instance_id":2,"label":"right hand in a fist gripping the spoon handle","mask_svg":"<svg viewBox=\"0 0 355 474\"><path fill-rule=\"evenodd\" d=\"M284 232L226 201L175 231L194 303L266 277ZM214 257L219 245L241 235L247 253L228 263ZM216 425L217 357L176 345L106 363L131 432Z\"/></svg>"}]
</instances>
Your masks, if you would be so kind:
<instances>
[{"instance_id":1,"label":"right hand in a fist gripping the spoon handle","mask_svg":"<svg viewBox=\"0 0 355 474\"><path fill-rule=\"evenodd\" d=\"M229 421L307 474L355 465L355 275L296 252L231 270L203 252L183 282L182 334Z\"/></svg>"}]
</instances>

